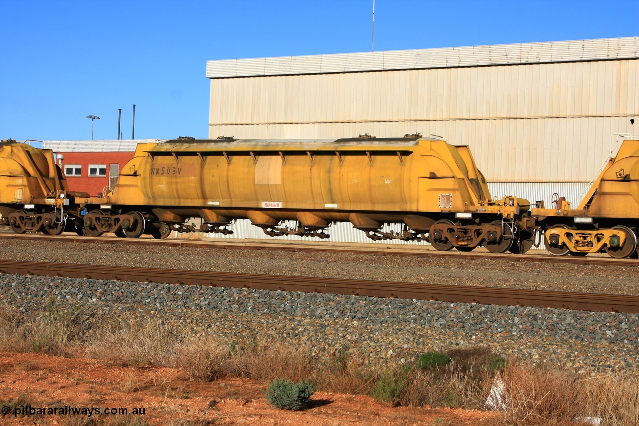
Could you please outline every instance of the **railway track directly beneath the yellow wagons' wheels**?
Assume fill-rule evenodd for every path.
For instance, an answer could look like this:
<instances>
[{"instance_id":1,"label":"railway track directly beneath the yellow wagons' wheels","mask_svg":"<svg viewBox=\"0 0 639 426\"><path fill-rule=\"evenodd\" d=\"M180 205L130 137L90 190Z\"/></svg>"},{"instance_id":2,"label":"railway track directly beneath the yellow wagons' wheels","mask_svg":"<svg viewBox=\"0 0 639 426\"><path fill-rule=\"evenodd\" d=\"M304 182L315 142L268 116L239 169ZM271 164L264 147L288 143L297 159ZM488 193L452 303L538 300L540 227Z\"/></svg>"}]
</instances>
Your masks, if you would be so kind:
<instances>
[{"instance_id":1,"label":"railway track directly beneath the yellow wagons' wheels","mask_svg":"<svg viewBox=\"0 0 639 426\"><path fill-rule=\"evenodd\" d=\"M310 245L300 244L298 242L270 241L194 241L188 239L171 239L156 240L152 238L116 238L116 237L78 237L75 235L41 235L41 234L15 234L0 233L2 239L26 239L33 241L59 241L59 242L80 242L82 244L128 244L132 246L163 246L163 247L189 247L202 249L243 249L243 250L275 250L275 251L294 251L308 253L358 253L366 255L397 255L397 256L415 256L415 257L440 257L440 258L459 258L459 259L488 259L488 260L511 260L512 262L550 262L556 264L576 264L576 265L609 265L609 266L638 266L637 259L617 259L608 256L552 256L544 254L527 254L514 255L512 253L495 254L482 251L473 251L470 253L461 251L436 251L434 249L420 248L393 248L392 246L346 246L346 245L327 245L326 243Z\"/></svg>"}]
</instances>

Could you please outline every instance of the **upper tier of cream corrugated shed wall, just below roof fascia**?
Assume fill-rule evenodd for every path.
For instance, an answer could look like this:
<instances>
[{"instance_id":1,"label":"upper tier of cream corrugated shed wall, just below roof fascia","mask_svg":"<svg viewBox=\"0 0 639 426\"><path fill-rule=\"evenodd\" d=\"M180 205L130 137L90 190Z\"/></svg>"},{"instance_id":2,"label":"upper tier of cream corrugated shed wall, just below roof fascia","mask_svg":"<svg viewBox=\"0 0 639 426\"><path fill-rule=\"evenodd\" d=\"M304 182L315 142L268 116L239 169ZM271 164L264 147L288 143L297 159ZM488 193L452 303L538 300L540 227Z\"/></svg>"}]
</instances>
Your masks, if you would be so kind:
<instances>
[{"instance_id":1,"label":"upper tier of cream corrugated shed wall, just below roof fascia","mask_svg":"<svg viewBox=\"0 0 639 426\"><path fill-rule=\"evenodd\" d=\"M212 79L211 124L619 116L639 110L639 61Z\"/></svg>"}]
</instances>

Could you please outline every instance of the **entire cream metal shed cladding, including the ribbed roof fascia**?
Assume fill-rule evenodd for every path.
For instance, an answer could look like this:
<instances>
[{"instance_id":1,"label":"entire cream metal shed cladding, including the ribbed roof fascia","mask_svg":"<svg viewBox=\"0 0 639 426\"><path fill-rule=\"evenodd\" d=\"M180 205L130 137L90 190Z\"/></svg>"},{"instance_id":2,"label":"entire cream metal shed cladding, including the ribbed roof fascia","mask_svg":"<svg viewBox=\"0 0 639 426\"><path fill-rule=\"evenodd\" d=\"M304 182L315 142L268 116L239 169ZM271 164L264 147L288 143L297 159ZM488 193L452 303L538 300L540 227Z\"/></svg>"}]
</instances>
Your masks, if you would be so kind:
<instances>
[{"instance_id":1,"label":"entire cream metal shed cladding, including the ribbed roof fascia","mask_svg":"<svg viewBox=\"0 0 639 426\"><path fill-rule=\"evenodd\" d=\"M638 58L631 37L208 61L209 135L420 132L470 145L491 181L589 182L610 134L639 133Z\"/></svg>"}]
</instances>

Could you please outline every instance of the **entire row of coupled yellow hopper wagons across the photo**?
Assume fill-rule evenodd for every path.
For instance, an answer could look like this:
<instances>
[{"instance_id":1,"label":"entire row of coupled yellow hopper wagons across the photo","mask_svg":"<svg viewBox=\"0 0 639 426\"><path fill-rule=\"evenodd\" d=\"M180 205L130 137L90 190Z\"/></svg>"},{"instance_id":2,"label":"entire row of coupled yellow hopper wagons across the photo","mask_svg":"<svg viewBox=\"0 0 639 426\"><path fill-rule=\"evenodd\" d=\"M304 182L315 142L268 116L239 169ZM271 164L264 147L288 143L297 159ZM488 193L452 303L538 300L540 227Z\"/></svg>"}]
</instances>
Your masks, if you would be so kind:
<instances>
[{"instance_id":1,"label":"entire row of coupled yellow hopper wagons across the photo","mask_svg":"<svg viewBox=\"0 0 639 426\"><path fill-rule=\"evenodd\" d=\"M0 223L15 232L164 238L229 233L236 219L249 219L271 236L327 238L332 223L349 222L373 240L426 240L438 250L525 253L543 237L554 255L636 255L639 141L624 142L577 209L562 197L549 209L516 196L493 200L467 146L419 134L142 143L104 198L68 191L52 159L47 176L29 164L10 170L8 152L36 150L26 146L11 141L0 151L0 178L15 189L0 194ZM19 175L40 182L40 193L36 185L19 194ZM42 214L50 219L35 219ZM188 224L194 217L199 228ZM383 232L385 223L401 232Z\"/></svg>"}]
</instances>

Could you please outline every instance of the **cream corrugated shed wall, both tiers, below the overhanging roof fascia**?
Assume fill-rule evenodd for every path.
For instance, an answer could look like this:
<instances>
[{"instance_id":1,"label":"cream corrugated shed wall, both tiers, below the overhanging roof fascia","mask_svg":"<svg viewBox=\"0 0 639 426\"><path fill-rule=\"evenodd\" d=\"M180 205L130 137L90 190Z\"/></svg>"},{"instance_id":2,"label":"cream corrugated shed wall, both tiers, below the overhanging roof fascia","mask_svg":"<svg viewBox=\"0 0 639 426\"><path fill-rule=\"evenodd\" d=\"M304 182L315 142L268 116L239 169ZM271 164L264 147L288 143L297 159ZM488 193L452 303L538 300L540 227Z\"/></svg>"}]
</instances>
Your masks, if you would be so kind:
<instances>
[{"instance_id":1,"label":"cream corrugated shed wall, both tiers, below the overhanging roof fascia","mask_svg":"<svg viewBox=\"0 0 639 426\"><path fill-rule=\"evenodd\" d=\"M639 133L639 60L212 79L210 137L420 132L470 145L489 180L589 181Z\"/></svg>"}]
</instances>

